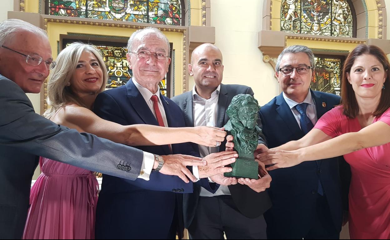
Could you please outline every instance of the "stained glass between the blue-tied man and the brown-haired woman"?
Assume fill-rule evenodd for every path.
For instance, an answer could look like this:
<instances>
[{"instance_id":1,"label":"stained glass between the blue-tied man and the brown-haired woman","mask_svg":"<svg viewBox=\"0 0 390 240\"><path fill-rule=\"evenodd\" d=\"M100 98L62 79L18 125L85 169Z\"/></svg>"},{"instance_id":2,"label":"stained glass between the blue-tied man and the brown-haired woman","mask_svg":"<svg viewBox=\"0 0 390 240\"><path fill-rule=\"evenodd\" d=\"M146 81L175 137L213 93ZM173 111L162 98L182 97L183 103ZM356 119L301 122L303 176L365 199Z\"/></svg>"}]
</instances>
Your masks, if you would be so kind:
<instances>
[{"instance_id":1,"label":"stained glass between the blue-tied man and the brown-haired woman","mask_svg":"<svg viewBox=\"0 0 390 240\"><path fill-rule=\"evenodd\" d=\"M311 89L340 96L340 58L314 58L316 71Z\"/></svg>"}]
</instances>

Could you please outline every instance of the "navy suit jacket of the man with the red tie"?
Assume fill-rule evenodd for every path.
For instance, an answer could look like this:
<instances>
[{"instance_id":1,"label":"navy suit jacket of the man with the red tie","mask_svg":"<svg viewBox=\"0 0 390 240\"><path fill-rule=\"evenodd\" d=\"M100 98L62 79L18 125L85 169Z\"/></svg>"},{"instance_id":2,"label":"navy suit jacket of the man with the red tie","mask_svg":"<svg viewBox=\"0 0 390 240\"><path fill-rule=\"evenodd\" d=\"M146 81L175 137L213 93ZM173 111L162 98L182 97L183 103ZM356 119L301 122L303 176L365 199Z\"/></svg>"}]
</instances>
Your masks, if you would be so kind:
<instances>
[{"instance_id":1,"label":"navy suit jacket of the man with the red tie","mask_svg":"<svg viewBox=\"0 0 390 240\"><path fill-rule=\"evenodd\" d=\"M160 98L168 126L184 127L184 116L179 107L161 94ZM100 93L95 101L94 112L103 119L122 125L158 126L156 118L131 80L125 86ZM171 154L168 145L137 148L159 155ZM189 143L172 144L172 152L199 156ZM202 183L209 186L207 179L198 182ZM167 238L172 222L176 224L174 227L180 225L180 229L183 229L181 206L176 205L177 201L182 201L183 194L177 193L192 191L192 182L186 184L177 176L159 172L152 172L149 181L129 181L103 175L97 203L96 238ZM175 214L175 208L176 212L180 211L180 218Z\"/></svg>"}]
</instances>

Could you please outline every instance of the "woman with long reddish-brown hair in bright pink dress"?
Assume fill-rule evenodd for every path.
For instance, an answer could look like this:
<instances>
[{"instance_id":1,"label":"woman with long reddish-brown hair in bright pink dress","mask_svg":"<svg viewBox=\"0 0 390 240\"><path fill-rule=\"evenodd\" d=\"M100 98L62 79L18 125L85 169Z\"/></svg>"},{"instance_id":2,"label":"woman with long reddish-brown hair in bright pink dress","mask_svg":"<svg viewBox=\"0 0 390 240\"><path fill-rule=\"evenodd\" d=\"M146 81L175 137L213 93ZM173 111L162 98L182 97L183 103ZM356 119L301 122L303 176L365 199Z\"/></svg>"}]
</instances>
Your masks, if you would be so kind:
<instances>
[{"instance_id":1,"label":"woman with long reddish-brown hair in bright pink dress","mask_svg":"<svg viewBox=\"0 0 390 240\"><path fill-rule=\"evenodd\" d=\"M344 155L352 172L351 239L390 239L389 68L378 47L353 49L343 68L342 105L324 114L305 137L258 156L273 170Z\"/></svg>"}]
</instances>

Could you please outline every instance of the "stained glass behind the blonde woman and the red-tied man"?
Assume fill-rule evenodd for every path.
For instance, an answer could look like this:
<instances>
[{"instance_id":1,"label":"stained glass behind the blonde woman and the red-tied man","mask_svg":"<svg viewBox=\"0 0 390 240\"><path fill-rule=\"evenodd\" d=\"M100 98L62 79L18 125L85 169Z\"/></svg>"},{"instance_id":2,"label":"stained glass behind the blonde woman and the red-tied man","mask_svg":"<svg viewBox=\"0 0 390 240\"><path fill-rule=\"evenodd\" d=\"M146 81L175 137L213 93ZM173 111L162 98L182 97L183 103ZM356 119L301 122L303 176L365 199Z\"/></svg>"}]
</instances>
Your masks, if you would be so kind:
<instances>
[{"instance_id":1,"label":"stained glass behind the blonde woman and the red-tied man","mask_svg":"<svg viewBox=\"0 0 390 240\"><path fill-rule=\"evenodd\" d=\"M82 40L64 40L64 47L69 46L72 42L81 42ZM106 88L117 88L126 84L132 77L133 73L129 69L129 63L126 59L127 47L126 44L113 44L112 42L88 41L93 44L97 51L103 56L108 71L108 80ZM161 94L168 96L170 72L165 75L165 78L158 84Z\"/></svg>"}]
</instances>

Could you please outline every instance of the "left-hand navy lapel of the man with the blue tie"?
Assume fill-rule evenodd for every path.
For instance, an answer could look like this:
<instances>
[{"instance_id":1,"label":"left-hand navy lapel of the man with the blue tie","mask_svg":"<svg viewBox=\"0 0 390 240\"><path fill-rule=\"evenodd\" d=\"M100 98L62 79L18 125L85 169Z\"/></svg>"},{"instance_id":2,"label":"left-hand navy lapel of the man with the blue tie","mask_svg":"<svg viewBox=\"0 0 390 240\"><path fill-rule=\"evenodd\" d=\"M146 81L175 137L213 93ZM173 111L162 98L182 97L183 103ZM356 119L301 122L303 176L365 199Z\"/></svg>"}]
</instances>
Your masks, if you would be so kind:
<instances>
[{"instance_id":1,"label":"left-hand navy lapel of the man with the blue tie","mask_svg":"<svg viewBox=\"0 0 390 240\"><path fill-rule=\"evenodd\" d=\"M276 97L276 105L278 105L276 108L277 113L283 119L291 133L293 133L293 136L299 136L299 138L303 137L303 132L296 122L293 112L291 112L289 105L287 105L283 98L283 93L280 93L280 95Z\"/></svg>"}]
</instances>

